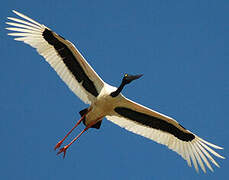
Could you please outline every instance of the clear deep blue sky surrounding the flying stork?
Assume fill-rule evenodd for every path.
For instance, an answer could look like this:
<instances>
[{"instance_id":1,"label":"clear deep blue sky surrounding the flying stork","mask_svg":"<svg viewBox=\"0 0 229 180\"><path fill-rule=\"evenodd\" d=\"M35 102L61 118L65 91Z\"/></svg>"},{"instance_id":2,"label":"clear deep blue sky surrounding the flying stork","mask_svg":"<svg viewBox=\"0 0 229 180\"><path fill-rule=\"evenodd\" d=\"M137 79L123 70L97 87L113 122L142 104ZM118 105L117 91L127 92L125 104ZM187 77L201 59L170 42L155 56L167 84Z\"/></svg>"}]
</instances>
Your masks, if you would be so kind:
<instances>
[{"instance_id":1,"label":"clear deep blue sky surrounding the flying stork","mask_svg":"<svg viewBox=\"0 0 229 180\"><path fill-rule=\"evenodd\" d=\"M6 35L12 9L73 42L111 85L126 72L143 73L124 95L223 146L218 152L229 158L228 0L8 0L0 6L1 179L228 178L228 159L216 158L214 173L197 174L167 147L107 120L64 160L56 156L55 144L87 105L34 49Z\"/></svg>"}]
</instances>

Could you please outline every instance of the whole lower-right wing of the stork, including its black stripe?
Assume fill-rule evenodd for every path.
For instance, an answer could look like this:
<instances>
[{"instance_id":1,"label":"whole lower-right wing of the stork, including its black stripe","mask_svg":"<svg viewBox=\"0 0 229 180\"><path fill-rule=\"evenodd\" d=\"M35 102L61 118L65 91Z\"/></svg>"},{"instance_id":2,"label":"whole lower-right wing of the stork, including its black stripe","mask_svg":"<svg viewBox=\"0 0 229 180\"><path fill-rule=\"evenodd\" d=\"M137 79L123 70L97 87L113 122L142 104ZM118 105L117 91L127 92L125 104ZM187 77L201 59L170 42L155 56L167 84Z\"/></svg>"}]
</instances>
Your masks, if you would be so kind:
<instances>
[{"instance_id":1,"label":"whole lower-right wing of the stork, including its black stripe","mask_svg":"<svg viewBox=\"0 0 229 180\"><path fill-rule=\"evenodd\" d=\"M209 160L219 167L207 151L219 158L224 158L210 148L222 149L221 147L201 139L186 130L174 119L129 99L122 98L116 104L113 112L107 116L107 119L133 133L168 146L180 154L189 166L191 166L192 160L196 171L199 170L199 164L202 170L206 172L204 163L213 171Z\"/></svg>"}]
</instances>

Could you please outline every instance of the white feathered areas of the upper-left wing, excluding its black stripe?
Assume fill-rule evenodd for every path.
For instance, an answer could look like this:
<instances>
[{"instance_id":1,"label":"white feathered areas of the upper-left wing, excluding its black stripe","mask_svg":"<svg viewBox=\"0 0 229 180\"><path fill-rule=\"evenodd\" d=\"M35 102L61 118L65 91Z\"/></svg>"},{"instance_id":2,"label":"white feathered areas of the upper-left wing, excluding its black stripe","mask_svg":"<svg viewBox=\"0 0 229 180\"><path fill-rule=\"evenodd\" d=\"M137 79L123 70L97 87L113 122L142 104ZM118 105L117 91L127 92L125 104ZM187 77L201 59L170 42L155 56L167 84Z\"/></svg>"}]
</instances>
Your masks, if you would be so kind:
<instances>
[{"instance_id":1,"label":"white feathered areas of the upper-left wing, excluding its black stripe","mask_svg":"<svg viewBox=\"0 0 229 180\"><path fill-rule=\"evenodd\" d=\"M88 93L81 83L79 83L69 71L67 66L64 64L61 57L57 54L53 46L48 44L48 42L43 38L42 33L47 28L46 26L32 20L31 18L17 12L13 11L15 14L20 16L22 19L17 19L13 17L8 17L9 20L13 22L6 22L6 24L14 27L8 27L6 29L10 31L15 31L15 33L8 33L10 36L18 36L15 38L17 41L23 41L26 44L36 48L38 53L45 58L45 60L53 67L61 79L68 85L68 87L85 103L91 104L95 97ZM47 28L49 29L49 28ZM49 29L50 30L50 29ZM58 36L58 35L57 35ZM62 43L68 46L68 48L73 52L74 56L77 57L79 64L82 66L83 70L87 74L90 80L96 86L98 92L104 86L103 80L98 76L98 74L92 69L92 67L87 63L84 57L76 49L76 47L69 41L64 40L58 36Z\"/></svg>"}]
</instances>

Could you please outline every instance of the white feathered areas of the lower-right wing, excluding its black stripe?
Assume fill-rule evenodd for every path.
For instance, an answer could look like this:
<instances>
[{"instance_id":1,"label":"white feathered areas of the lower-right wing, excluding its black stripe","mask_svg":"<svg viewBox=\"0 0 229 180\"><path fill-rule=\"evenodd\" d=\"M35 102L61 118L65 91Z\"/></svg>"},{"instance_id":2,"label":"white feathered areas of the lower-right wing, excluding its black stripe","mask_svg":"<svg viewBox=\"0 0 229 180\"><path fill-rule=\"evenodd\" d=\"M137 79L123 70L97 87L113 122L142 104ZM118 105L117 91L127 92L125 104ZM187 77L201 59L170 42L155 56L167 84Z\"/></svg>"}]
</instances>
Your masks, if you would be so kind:
<instances>
[{"instance_id":1,"label":"white feathered areas of the lower-right wing, excluding its black stripe","mask_svg":"<svg viewBox=\"0 0 229 180\"><path fill-rule=\"evenodd\" d=\"M171 124L179 125L174 119L168 116L165 116L161 113L158 113L156 111L153 111L140 104L137 104L127 98L122 98L122 100L117 103L117 106L130 108L132 110L136 110L138 112L145 113L147 115L161 118L162 121L166 120L167 122ZM215 149L223 149L223 148L216 146L212 143L209 143L199 138L198 136L196 136L193 133L192 134L195 136L195 138L192 141L185 142L185 141L178 139L177 137L175 137L174 135L168 132L161 131L158 129L153 129L151 127L147 127L139 123L136 123L135 121L128 119L126 117L122 117L120 114L116 113L115 111L112 112L109 116L106 116L106 118L110 120L111 122L117 124L118 126L125 128L128 131L131 131L133 133L136 133L146 138L149 138L153 141L156 141L157 143L166 145L169 149L181 155L182 158L184 158L187 161L189 166L191 166L190 160L192 160L192 163L194 164L194 167L197 172L198 172L198 165L201 167L201 169L205 173L206 173L205 165L211 171L213 171L209 163L209 160L213 164L215 164L217 167L219 167L218 163L213 159L213 157L207 151L209 151L210 153L212 153L213 155L219 158L224 159L223 156L219 155L212 149L212 148L215 148ZM205 165L203 162L205 163Z\"/></svg>"}]
</instances>

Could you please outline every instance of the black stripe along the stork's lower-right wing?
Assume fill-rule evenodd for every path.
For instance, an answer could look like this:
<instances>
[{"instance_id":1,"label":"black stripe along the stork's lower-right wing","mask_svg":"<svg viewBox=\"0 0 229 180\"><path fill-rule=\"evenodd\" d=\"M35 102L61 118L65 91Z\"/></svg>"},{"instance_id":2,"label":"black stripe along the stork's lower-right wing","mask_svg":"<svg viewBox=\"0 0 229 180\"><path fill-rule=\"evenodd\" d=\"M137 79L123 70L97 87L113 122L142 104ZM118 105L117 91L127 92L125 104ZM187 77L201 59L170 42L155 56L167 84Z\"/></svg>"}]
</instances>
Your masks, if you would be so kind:
<instances>
[{"instance_id":1,"label":"black stripe along the stork's lower-right wing","mask_svg":"<svg viewBox=\"0 0 229 180\"><path fill-rule=\"evenodd\" d=\"M137 112L125 107L116 107L115 112L119 115L133 120L141 125L170 133L182 141L192 141L195 136L192 133L181 131L179 128L157 117Z\"/></svg>"}]
</instances>

